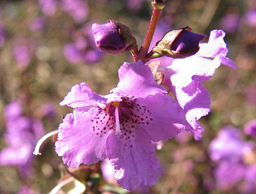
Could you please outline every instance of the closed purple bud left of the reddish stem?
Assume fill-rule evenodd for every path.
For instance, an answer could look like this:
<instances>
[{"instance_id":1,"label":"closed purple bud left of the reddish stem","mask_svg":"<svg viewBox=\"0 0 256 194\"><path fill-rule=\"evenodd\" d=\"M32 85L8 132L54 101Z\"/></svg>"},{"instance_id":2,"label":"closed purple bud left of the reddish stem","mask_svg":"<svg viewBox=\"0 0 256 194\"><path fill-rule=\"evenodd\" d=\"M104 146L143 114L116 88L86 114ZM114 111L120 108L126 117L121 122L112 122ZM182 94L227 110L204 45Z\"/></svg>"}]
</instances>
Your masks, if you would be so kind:
<instances>
[{"instance_id":1,"label":"closed purple bud left of the reddish stem","mask_svg":"<svg viewBox=\"0 0 256 194\"><path fill-rule=\"evenodd\" d=\"M92 30L97 47L105 52L118 54L136 48L136 39L129 27L114 20L102 25L93 23Z\"/></svg>"}]
</instances>

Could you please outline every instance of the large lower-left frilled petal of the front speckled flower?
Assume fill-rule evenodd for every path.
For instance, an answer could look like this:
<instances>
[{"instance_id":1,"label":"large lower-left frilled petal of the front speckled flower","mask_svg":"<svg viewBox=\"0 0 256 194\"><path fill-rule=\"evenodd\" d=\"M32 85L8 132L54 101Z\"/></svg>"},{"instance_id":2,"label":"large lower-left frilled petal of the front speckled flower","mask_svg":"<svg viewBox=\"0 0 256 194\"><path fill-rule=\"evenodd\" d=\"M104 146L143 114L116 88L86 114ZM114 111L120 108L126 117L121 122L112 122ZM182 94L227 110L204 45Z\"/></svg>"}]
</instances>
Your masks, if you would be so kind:
<instances>
[{"instance_id":1,"label":"large lower-left frilled petal of the front speckled flower","mask_svg":"<svg viewBox=\"0 0 256 194\"><path fill-rule=\"evenodd\" d=\"M113 122L112 122L113 123ZM106 138L113 129L103 109L82 107L68 114L59 126L55 150L70 167L90 165L106 158ZM106 128L108 127L108 128Z\"/></svg>"}]
</instances>

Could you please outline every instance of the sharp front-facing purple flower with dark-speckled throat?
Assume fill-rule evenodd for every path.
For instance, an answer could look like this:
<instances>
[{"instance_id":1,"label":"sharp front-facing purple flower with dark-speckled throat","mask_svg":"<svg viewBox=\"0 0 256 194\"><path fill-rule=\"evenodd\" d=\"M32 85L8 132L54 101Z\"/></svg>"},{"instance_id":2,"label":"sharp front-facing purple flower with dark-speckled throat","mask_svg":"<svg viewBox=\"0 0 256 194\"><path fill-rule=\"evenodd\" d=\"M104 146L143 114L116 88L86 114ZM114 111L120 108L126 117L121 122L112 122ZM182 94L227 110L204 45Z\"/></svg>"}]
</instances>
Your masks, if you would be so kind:
<instances>
[{"instance_id":1,"label":"sharp front-facing purple flower with dark-speckled throat","mask_svg":"<svg viewBox=\"0 0 256 194\"><path fill-rule=\"evenodd\" d=\"M177 135L186 122L183 110L154 80L141 61L124 63L111 94L75 85L60 103L76 108L59 126L56 153L70 167L109 158L117 182L128 190L153 185L160 174L152 141Z\"/></svg>"}]
</instances>

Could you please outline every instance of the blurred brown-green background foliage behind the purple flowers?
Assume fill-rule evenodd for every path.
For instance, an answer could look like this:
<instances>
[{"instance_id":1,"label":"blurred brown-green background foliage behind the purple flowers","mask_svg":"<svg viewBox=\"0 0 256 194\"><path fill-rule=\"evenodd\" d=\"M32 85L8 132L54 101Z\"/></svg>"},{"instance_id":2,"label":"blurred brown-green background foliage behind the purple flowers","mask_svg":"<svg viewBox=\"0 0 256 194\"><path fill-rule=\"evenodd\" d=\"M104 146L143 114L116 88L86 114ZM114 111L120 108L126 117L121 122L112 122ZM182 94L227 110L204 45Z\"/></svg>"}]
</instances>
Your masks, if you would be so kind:
<instances>
[{"instance_id":1,"label":"blurred brown-green background foliage behind the purple flowers","mask_svg":"<svg viewBox=\"0 0 256 194\"><path fill-rule=\"evenodd\" d=\"M1 23L6 29L6 40L0 47L1 150L6 146L4 107L13 100L21 99L24 114L41 119L49 133L58 128L61 115L72 112L71 108L58 104L73 85L86 82L99 94L108 94L116 86L119 66L124 61L133 61L130 53L105 54L94 64L71 64L63 54L63 47L75 41L86 23L104 23L109 19L129 26L140 46L152 11L151 1L141 1L140 7L134 9L129 9L124 0L84 1L89 6L89 13L80 23L63 11L60 4L53 15L47 16L36 0L0 2ZM130 193L223 193L214 185L212 167L215 164L209 160L207 149L222 126L234 125L243 130L247 122L256 118L256 25L250 25L246 19L250 9L256 9L256 1L166 0L161 18L169 21L167 28L189 26L193 32L206 34L207 38L211 30L226 31L227 57L236 63L237 70L221 66L214 77L204 83L211 96L212 110L200 119L205 128L203 139L195 141L188 136L183 143L175 138L164 142L164 147L157 151L163 168L158 183L151 187L151 191L138 189ZM229 21L237 21L233 30L223 22L228 14L237 16ZM44 17L45 27L31 31L29 23L38 16ZM13 52L17 42L24 42L30 48L30 62L26 67L15 60ZM57 117L52 120L40 117L41 107L47 102L56 109ZM42 155L36 156L33 164L35 172L26 182L15 167L0 167L0 193L17 193L23 184L30 185L35 193L49 193L54 188L65 165L56 155L51 140L43 144L42 150Z\"/></svg>"}]
</instances>

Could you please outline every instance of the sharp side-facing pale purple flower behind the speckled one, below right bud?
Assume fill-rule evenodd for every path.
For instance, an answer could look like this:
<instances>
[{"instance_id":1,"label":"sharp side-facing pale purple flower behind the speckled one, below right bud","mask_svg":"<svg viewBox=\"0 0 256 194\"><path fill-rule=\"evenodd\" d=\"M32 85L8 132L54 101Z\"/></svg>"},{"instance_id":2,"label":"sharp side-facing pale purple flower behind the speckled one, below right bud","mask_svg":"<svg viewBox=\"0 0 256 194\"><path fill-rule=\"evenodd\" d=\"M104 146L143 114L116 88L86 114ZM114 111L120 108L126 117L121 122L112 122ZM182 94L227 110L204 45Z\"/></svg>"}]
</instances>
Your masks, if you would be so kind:
<instances>
[{"instance_id":1,"label":"sharp side-facing pale purple flower behind the speckled one, below right bud","mask_svg":"<svg viewBox=\"0 0 256 194\"><path fill-rule=\"evenodd\" d=\"M167 85L184 109L187 122L193 127L185 126L185 131L202 138L203 128L197 122L210 111L210 97L202 81L209 80L221 64L236 69L232 60L226 57L228 49L222 30L211 31L208 43L200 43L197 54L174 59L169 66L161 64L158 71L163 72L163 84Z\"/></svg>"}]
</instances>

